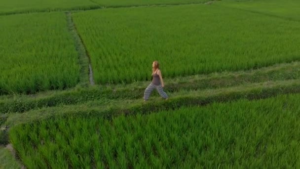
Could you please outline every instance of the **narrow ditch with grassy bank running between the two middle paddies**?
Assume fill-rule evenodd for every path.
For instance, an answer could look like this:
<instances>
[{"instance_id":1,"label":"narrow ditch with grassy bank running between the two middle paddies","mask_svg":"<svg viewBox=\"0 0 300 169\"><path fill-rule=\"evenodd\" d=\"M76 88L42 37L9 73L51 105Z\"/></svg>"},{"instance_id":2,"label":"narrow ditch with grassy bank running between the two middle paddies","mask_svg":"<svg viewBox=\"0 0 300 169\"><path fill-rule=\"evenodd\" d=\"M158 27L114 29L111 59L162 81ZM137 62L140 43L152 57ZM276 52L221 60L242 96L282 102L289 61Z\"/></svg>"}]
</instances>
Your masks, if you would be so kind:
<instances>
[{"instance_id":1,"label":"narrow ditch with grassy bank running between the two middle paddies","mask_svg":"<svg viewBox=\"0 0 300 169\"><path fill-rule=\"evenodd\" d=\"M88 54L86 46L83 43L82 38L80 37L80 35L76 29L75 23L73 22L72 13L66 12L66 15L67 15L68 27L74 37L75 48L76 48L76 51L78 52L78 59L79 59L79 65L80 65L80 84L79 85L87 86L88 82L90 85L94 85L95 82L93 79L91 58Z\"/></svg>"}]
</instances>

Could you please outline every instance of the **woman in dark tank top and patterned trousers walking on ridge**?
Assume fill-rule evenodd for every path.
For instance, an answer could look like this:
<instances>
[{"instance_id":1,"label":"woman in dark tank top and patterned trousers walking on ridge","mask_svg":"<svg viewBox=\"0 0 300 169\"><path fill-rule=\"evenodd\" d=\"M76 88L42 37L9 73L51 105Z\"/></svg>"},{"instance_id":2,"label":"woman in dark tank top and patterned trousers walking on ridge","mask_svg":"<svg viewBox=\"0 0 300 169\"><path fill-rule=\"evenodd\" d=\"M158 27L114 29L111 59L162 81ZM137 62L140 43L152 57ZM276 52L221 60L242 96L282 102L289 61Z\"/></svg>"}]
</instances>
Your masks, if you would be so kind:
<instances>
[{"instance_id":1,"label":"woman in dark tank top and patterned trousers walking on ridge","mask_svg":"<svg viewBox=\"0 0 300 169\"><path fill-rule=\"evenodd\" d=\"M161 72L159 70L159 64L157 61L154 61L152 63L152 77L152 82L148 85L144 92L144 101L147 101L149 99L150 94L154 88L156 88L161 97L167 100L168 95L162 89L162 87L164 87L164 84L161 77Z\"/></svg>"}]
</instances>

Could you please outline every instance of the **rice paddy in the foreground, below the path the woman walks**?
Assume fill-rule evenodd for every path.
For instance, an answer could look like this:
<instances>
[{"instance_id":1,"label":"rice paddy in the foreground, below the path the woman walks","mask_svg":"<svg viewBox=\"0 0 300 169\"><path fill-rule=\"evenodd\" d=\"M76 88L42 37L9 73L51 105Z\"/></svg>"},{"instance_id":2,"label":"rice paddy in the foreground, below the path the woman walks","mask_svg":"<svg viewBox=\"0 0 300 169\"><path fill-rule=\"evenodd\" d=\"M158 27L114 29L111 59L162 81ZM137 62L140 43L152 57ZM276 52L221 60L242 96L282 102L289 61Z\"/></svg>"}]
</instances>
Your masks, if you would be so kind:
<instances>
[{"instance_id":1,"label":"rice paddy in the foreground, below the path the woman walks","mask_svg":"<svg viewBox=\"0 0 300 169\"><path fill-rule=\"evenodd\" d=\"M13 127L27 168L298 168L300 95Z\"/></svg>"}]
</instances>

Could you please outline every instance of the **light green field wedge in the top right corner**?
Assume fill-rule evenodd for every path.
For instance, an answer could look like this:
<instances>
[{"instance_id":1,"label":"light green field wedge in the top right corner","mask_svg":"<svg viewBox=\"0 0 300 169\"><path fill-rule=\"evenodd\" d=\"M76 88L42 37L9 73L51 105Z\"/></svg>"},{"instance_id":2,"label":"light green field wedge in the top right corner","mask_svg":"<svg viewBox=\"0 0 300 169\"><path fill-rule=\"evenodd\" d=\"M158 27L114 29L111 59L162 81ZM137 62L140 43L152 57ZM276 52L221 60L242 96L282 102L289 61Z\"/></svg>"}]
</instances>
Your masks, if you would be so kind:
<instances>
[{"instance_id":1,"label":"light green field wedge in the top right corner","mask_svg":"<svg viewBox=\"0 0 300 169\"><path fill-rule=\"evenodd\" d=\"M222 0L218 5L300 21L299 0Z\"/></svg>"}]
</instances>

